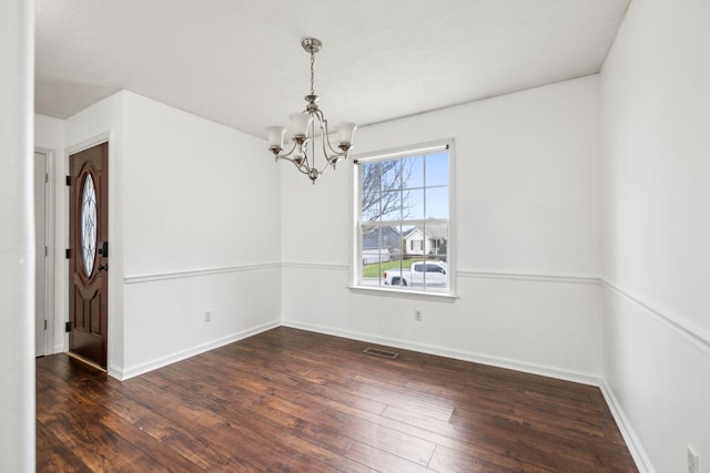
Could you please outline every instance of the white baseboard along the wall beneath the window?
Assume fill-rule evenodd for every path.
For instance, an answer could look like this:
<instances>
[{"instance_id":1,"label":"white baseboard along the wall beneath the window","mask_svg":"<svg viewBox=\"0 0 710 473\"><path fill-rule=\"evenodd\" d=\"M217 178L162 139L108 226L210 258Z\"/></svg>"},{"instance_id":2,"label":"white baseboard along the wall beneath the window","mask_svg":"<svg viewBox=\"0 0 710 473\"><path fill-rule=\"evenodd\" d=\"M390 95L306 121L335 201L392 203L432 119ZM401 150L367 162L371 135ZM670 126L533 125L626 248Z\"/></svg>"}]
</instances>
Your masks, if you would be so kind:
<instances>
[{"instance_id":1,"label":"white baseboard along the wall beneath the window","mask_svg":"<svg viewBox=\"0 0 710 473\"><path fill-rule=\"evenodd\" d=\"M578 382L581 384L599 385L600 379L596 374L584 373L571 370L560 370L558 368L548 367L544 364L520 362L517 360L510 360L499 357L490 357L487 354L475 353L470 351L453 350L450 348L437 347L433 345L412 343L405 340L382 338L372 336L369 333L355 332L349 330L333 329L331 327L324 327L312 323L302 323L294 320L282 320L284 327L292 327L295 329L315 331L318 333L332 335L335 337L349 338L354 340L366 341L369 343L377 343L386 347L400 348L403 350L418 351L422 353L435 354L439 357L453 358L456 360L470 361L474 363L488 364L498 368L506 368L509 370L523 371L530 374L540 374L549 378L561 379L565 381Z\"/></svg>"}]
</instances>

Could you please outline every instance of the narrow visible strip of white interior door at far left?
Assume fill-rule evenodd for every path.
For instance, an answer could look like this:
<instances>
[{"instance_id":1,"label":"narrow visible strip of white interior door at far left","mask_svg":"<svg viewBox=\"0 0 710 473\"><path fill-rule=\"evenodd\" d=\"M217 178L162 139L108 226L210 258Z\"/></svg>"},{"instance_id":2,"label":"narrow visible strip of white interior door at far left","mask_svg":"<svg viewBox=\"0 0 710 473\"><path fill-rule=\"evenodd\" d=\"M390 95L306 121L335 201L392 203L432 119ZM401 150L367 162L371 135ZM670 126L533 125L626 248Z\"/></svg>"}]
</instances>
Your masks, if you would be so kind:
<instances>
[{"instance_id":1,"label":"narrow visible strip of white interior door at far left","mask_svg":"<svg viewBox=\"0 0 710 473\"><path fill-rule=\"evenodd\" d=\"M47 155L34 153L34 353L47 345Z\"/></svg>"}]
</instances>

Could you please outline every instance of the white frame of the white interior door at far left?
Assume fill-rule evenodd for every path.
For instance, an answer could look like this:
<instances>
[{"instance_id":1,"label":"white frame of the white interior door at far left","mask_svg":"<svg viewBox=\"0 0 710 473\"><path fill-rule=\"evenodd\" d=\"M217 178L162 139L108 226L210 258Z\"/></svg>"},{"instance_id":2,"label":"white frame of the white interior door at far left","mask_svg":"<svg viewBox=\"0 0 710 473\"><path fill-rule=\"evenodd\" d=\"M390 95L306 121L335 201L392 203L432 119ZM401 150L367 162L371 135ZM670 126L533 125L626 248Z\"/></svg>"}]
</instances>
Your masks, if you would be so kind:
<instances>
[{"instance_id":1,"label":"white frame of the white interior door at far left","mask_svg":"<svg viewBox=\"0 0 710 473\"><path fill-rule=\"evenodd\" d=\"M55 197L55 153L53 150L45 147L34 147L34 153L43 154L45 158L44 173L47 173L47 187L44 194L44 241L47 246L47 256L44 257L44 317L47 319L47 330L44 331L44 356L54 353L54 327L55 315L55 278L54 278L54 255L55 255L55 237L54 227L57 215L57 197ZM34 158L34 154L32 154ZM40 255L37 255L39 257ZM36 327L37 331L38 328Z\"/></svg>"}]
</instances>

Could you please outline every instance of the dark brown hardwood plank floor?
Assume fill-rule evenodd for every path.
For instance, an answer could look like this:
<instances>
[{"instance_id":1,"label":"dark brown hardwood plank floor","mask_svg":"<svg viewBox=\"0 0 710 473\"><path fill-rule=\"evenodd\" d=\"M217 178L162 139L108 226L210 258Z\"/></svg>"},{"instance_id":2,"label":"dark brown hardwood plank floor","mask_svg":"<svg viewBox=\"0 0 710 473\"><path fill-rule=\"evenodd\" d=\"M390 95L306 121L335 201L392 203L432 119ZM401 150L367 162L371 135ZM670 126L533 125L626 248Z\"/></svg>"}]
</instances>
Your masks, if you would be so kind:
<instances>
[{"instance_id":1,"label":"dark brown hardwood plank floor","mask_svg":"<svg viewBox=\"0 0 710 473\"><path fill-rule=\"evenodd\" d=\"M124 382L39 358L37 469L637 471L598 388L368 346L282 327Z\"/></svg>"}]
</instances>

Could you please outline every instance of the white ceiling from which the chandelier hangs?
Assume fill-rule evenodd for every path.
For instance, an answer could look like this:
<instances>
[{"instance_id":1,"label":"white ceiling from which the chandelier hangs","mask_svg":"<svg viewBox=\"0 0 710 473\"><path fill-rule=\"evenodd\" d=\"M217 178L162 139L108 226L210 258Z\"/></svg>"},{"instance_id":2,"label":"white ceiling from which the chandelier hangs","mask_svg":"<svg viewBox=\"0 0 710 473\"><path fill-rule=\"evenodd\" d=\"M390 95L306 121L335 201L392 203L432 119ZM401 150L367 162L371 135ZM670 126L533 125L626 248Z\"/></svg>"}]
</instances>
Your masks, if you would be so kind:
<instances>
[{"instance_id":1,"label":"white ceiling from which the chandelier hangs","mask_svg":"<svg viewBox=\"0 0 710 473\"><path fill-rule=\"evenodd\" d=\"M36 109L126 89L253 135L310 92L361 125L599 71L629 0L36 0Z\"/></svg>"}]
</instances>

